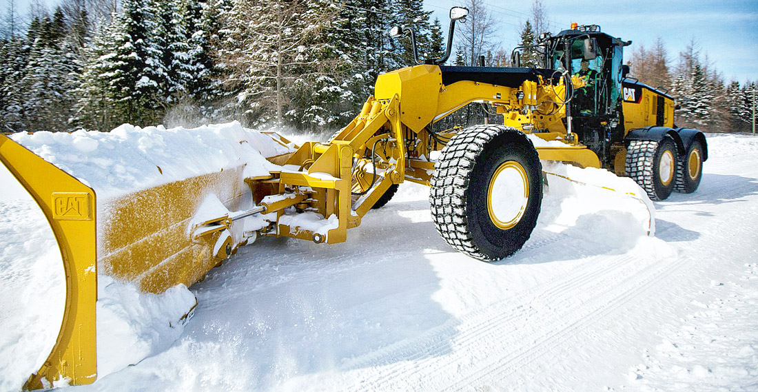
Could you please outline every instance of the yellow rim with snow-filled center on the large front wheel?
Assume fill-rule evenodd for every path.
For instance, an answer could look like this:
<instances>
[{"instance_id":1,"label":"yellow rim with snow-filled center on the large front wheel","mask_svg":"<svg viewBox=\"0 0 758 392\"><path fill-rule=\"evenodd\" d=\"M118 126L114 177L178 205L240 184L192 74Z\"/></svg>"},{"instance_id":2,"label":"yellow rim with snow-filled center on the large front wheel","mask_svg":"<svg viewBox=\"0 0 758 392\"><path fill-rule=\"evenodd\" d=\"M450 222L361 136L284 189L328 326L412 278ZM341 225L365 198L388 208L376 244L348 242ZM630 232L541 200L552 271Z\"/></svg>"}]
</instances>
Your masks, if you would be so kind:
<instances>
[{"instance_id":1,"label":"yellow rim with snow-filled center on the large front wheel","mask_svg":"<svg viewBox=\"0 0 758 392\"><path fill-rule=\"evenodd\" d=\"M529 201L529 178L515 161L497 168L487 188L487 212L496 227L508 230L524 216Z\"/></svg>"}]
</instances>

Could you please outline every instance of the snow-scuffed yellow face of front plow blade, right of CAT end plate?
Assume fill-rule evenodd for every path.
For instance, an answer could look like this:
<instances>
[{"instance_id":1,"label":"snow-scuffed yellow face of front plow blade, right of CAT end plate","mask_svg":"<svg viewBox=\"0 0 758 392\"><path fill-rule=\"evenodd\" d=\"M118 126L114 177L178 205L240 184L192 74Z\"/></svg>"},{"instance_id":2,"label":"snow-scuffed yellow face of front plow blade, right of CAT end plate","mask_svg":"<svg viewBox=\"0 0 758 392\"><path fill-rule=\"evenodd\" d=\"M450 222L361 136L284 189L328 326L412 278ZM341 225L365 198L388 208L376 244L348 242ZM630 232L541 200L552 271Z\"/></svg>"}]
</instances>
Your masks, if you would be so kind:
<instances>
[{"instance_id":1,"label":"snow-scuffed yellow face of front plow blade, right of CAT end plate","mask_svg":"<svg viewBox=\"0 0 758 392\"><path fill-rule=\"evenodd\" d=\"M163 293L199 281L221 259L213 248L221 232L193 239L190 224L200 205L214 195L230 211L248 205L243 166L100 200L98 271ZM233 243L233 247L236 247Z\"/></svg>"}]
</instances>

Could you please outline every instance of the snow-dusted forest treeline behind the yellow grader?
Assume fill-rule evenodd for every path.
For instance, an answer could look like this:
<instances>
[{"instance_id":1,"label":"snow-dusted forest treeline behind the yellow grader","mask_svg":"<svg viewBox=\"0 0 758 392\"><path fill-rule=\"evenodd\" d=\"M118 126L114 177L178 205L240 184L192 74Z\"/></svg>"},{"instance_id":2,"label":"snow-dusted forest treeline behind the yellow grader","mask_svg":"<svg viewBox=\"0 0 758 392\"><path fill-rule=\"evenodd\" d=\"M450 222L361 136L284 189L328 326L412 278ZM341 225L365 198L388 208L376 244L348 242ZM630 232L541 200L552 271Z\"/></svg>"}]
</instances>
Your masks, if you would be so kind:
<instances>
[{"instance_id":1,"label":"snow-dusted forest treeline behind the yellow grader","mask_svg":"<svg viewBox=\"0 0 758 392\"><path fill-rule=\"evenodd\" d=\"M449 63L483 55L487 64L510 65L494 14L483 0L463 3L470 21L459 27ZM230 120L330 132L359 111L378 74L414 64L410 39L390 39L390 27L414 27L421 58L442 57L446 40L422 0L62 0L52 12L33 9L27 24L12 0L6 11L6 132ZM520 45L548 30L546 14L536 0ZM694 42L675 64L661 39L627 58L634 77L675 96L678 125L749 129L755 83L726 81ZM481 115L469 109L455 119Z\"/></svg>"}]
</instances>

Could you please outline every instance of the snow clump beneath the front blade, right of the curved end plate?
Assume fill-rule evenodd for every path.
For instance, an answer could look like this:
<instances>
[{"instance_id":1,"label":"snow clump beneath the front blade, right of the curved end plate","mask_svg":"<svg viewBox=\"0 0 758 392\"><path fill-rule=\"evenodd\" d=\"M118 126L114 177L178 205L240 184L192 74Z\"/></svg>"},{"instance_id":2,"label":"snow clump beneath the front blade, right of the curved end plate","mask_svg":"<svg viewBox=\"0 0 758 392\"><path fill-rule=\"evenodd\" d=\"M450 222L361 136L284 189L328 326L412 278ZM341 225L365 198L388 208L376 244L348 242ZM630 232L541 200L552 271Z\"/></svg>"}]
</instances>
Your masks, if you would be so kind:
<instances>
[{"instance_id":1,"label":"snow clump beneath the front blade, right of the curved end plate","mask_svg":"<svg viewBox=\"0 0 758 392\"><path fill-rule=\"evenodd\" d=\"M156 295L99 275L98 378L166 350L182 334L181 319L195 305L195 295L183 284Z\"/></svg>"}]
</instances>

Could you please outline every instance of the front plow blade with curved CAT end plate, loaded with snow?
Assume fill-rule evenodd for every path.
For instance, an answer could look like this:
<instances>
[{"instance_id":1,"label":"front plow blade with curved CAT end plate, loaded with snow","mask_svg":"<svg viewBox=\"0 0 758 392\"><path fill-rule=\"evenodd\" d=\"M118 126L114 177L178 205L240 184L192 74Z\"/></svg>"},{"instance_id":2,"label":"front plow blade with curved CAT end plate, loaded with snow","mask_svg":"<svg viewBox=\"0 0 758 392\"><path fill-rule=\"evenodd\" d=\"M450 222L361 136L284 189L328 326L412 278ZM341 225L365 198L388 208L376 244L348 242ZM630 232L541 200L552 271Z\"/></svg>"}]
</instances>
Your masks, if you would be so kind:
<instances>
[{"instance_id":1,"label":"front plow blade with curved CAT end plate, loaded with snow","mask_svg":"<svg viewBox=\"0 0 758 392\"><path fill-rule=\"evenodd\" d=\"M111 173L111 168L133 169L138 173L136 180L143 181L116 189L102 183L102 178L110 174L92 174L72 167L77 160L101 162L108 148L90 149L83 155L67 153L67 158L58 160L56 156L63 154L52 154L54 165L45 160L51 159L45 150L35 145L36 136L48 138L42 143L45 148L69 148L67 142L81 136L97 140L100 147L122 143L117 148L135 152L145 136L154 140L165 137L171 139L169 143L175 149L189 152L183 161L175 150L165 154L163 161L149 152L125 153L128 158L120 162L112 158L114 164L100 170ZM190 171L187 165L208 158L195 155L198 149L208 146L202 140L205 136L223 140L224 144L211 147L215 161L201 162ZM61 330L48 359L39 370L34 369L24 390L96 381L98 356L103 354L98 350L105 350L96 344L99 276L131 284L141 293L162 294L179 284L189 287L202 281L238 246L255 240L256 231L270 224L260 218L259 212L273 206L254 199L252 187L264 187L256 184L273 177L268 170L279 168L273 162L284 162L293 151L291 143L278 135L249 133L234 124L197 131L152 128L121 134L23 134L14 139L0 136L0 160L42 209L60 247L66 274ZM182 143L191 143L190 140L196 140L196 144ZM265 145L258 148L268 149L268 158L252 147L253 143ZM146 173L146 168L152 168L154 173ZM256 205L256 201L261 204ZM288 201L280 204L286 207ZM292 199L291 203L300 201ZM250 213L251 209L257 212ZM104 290L105 286L100 288ZM196 301L185 305L184 315L170 321L170 325L183 325L192 315ZM103 366L100 373L106 375L110 368Z\"/></svg>"}]
</instances>

